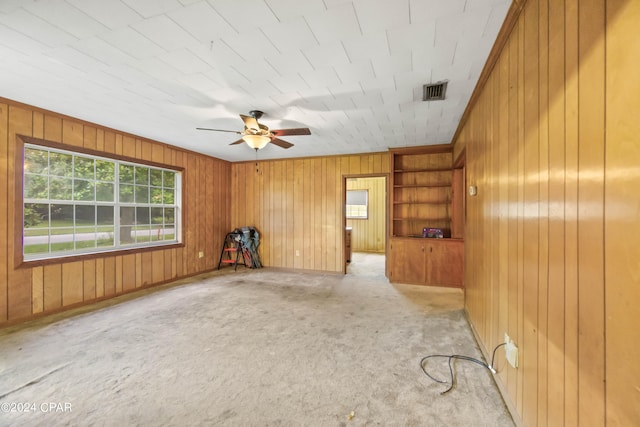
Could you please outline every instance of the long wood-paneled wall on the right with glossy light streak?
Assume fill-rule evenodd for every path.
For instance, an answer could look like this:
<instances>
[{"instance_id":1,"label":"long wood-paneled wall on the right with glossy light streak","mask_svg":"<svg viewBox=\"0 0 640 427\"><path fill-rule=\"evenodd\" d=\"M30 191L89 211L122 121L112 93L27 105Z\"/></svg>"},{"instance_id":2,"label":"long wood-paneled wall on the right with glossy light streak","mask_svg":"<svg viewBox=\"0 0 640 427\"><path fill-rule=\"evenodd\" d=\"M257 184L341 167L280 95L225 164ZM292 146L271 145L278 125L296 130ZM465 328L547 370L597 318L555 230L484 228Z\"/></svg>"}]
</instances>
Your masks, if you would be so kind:
<instances>
[{"instance_id":1,"label":"long wood-paneled wall on the right with glossy light streak","mask_svg":"<svg viewBox=\"0 0 640 427\"><path fill-rule=\"evenodd\" d=\"M519 347L497 381L527 426L640 424L638 22L527 0L455 141L466 311L487 353Z\"/></svg>"}]
</instances>

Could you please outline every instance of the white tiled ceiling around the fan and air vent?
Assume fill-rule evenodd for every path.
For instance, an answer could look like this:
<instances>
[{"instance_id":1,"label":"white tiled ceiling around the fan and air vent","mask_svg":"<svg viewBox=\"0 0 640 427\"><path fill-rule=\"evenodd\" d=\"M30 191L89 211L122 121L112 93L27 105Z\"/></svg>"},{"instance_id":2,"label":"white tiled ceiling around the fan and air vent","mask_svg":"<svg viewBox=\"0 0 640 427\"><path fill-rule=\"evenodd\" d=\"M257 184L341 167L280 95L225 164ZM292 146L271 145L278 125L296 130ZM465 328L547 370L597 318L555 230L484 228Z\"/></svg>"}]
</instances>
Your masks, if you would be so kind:
<instances>
[{"instance_id":1,"label":"white tiled ceiling around the fan and air vent","mask_svg":"<svg viewBox=\"0 0 640 427\"><path fill-rule=\"evenodd\" d=\"M0 0L0 96L218 158L451 142L511 0ZM447 80L444 101L422 86Z\"/></svg>"}]
</instances>

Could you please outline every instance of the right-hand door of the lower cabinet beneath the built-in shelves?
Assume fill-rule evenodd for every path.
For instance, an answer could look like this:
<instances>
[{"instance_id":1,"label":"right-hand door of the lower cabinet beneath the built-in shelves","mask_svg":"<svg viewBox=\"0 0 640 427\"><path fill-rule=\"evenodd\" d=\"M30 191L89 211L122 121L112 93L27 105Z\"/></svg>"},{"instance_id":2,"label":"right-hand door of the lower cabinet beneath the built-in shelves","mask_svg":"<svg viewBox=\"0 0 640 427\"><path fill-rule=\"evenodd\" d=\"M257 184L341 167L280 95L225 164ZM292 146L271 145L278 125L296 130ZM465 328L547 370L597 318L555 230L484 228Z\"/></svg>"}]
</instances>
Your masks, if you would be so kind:
<instances>
[{"instance_id":1,"label":"right-hand door of the lower cabinet beneath the built-in shelves","mask_svg":"<svg viewBox=\"0 0 640 427\"><path fill-rule=\"evenodd\" d=\"M427 284L462 287L464 243L437 239L426 244Z\"/></svg>"}]
</instances>

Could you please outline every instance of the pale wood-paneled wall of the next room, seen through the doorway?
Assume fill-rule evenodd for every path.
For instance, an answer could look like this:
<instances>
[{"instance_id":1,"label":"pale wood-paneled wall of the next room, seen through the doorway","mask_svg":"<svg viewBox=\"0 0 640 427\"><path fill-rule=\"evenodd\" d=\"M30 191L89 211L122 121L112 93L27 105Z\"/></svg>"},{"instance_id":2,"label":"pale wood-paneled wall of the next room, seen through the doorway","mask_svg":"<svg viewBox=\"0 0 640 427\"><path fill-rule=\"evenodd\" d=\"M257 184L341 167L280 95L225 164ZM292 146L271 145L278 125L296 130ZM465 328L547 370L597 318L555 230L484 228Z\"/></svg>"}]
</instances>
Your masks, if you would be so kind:
<instances>
[{"instance_id":1,"label":"pale wood-paneled wall of the next room, seen through the doorway","mask_svg":"<svg viewBox=\"0 0 640 427\"><path fill-rule=\"evenodd\" d=\"M347 219L351 227L351 250L384 253L387 241L387 180L384 177L350 178L347 190L368 190L367 219Z\"/></svg>"}]
</instances>

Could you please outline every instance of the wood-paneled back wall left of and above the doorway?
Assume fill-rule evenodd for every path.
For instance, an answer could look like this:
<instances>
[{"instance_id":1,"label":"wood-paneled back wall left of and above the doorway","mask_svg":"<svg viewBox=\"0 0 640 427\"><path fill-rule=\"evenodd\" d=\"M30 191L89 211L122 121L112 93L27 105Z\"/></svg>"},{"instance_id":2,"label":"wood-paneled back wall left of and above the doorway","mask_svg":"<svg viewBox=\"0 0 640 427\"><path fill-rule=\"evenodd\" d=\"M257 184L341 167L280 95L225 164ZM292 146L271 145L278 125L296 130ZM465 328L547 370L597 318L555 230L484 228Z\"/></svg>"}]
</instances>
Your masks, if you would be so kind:
<instances>
[{"instance_id":1,"label":"wood-paneled back wall left of and above the doorway","mask_svg":"<svg viewBox=\"0 0 640 427\"><path fill-rule=\"evenodd\" d=\"M265 266L344 271L342 177L388 174L389 154L234 163L232 226L261 233Z\"/></svg>"}]
</instances>

